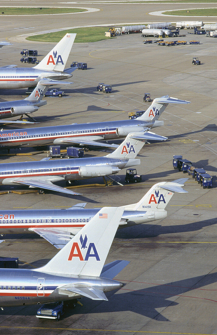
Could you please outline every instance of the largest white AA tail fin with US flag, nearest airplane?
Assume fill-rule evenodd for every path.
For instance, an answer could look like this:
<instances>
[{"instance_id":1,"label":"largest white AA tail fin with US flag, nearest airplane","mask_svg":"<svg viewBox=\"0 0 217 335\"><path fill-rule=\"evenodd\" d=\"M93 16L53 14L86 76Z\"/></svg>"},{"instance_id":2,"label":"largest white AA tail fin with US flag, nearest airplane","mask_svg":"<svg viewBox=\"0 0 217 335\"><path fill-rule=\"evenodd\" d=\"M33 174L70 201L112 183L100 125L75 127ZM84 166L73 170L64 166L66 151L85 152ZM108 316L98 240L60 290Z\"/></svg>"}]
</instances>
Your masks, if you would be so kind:
<instances>
[{"instance_id":1,"label":"largest white AA tail fin with US flag, nearest airplane","mask_svg":"<svg viewBox=\"0 0 217 335\"><path fill-rule=\"evenodd\" d=\"M35 271L99 277L123 211L117 207L100 209L48 264Z\"/></svg>"}]
</instances>

